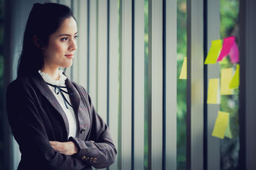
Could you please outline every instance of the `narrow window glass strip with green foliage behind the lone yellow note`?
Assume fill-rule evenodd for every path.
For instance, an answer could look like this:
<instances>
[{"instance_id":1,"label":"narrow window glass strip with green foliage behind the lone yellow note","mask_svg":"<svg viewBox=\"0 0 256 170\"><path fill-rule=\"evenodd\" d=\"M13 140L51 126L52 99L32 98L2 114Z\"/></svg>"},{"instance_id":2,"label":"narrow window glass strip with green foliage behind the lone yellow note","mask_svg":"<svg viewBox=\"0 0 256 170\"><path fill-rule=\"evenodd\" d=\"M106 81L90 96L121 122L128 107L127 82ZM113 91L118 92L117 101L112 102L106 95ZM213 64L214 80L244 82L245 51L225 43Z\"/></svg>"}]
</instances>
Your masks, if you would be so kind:
<instances>
[{"instance_id":1,"label":"narrow window glass strip with green foliage behind the lone yellow note","mask_svg":"<svg viewBox=\"0 0 256 170\"><path fill-rule=\"evenodd\" d=\"M186 169L186 80L179 79L187 53L187 1L177 0L177 169Z\"/></svg>"}]
</instances>

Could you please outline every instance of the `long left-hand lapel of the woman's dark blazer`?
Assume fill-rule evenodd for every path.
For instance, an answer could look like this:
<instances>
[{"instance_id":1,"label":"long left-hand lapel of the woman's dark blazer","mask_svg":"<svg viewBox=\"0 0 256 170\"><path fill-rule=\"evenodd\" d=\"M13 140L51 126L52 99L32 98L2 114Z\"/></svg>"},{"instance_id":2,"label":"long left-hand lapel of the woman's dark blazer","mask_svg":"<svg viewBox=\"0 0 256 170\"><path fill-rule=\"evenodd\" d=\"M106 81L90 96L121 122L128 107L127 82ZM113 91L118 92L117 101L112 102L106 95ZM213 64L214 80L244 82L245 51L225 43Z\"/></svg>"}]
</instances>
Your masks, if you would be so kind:
<instances>
[{"instance_id":1,"label":"long left-hand lapel of the woman's dark blazer","mask_svg":"<svg viewBox=\"0 0 256 170\"><path fill-rule=\"evenodd\" d=\"M58 111L58 113L60 113L66 127L67 138L68 138L68 134L69 134L68 119L65 112L61 108L60 103L58 102L54 94L52 94L51 89L49 88L49 86L47 85L47 83L44 81L44 79L39 73L36 73L35 76L32 76L32 80L35 82L36 87L38 87L40 92L45 96L45 98L49 101L49 103L51 103L51 105Z\"/></svg>"}]
</instances>

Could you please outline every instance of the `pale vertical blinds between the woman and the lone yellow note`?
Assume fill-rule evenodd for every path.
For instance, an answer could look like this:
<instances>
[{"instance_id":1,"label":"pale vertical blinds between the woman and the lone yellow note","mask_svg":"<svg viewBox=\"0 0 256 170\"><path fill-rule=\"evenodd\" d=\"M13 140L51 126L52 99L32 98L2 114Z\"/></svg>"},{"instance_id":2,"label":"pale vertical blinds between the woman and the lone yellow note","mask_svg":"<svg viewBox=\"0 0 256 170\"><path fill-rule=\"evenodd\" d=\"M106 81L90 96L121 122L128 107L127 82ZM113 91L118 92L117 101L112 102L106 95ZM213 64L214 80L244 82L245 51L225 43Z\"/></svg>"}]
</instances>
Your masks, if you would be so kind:
<instances>
[{"instance_id":1,"label":"pale vertical blinds between the woman and the lone yellow note","mask_svg":"<svg viewBox=\"0 0 256 170\"><path fill-rule=\"evenodd\" d=\"M88 90L118 148L108 169L176 169L176 1L148 1L147 80L144 0L58 3L72 7L78 21L76 59L66 71Z\"/></svg>"}]
</instances>

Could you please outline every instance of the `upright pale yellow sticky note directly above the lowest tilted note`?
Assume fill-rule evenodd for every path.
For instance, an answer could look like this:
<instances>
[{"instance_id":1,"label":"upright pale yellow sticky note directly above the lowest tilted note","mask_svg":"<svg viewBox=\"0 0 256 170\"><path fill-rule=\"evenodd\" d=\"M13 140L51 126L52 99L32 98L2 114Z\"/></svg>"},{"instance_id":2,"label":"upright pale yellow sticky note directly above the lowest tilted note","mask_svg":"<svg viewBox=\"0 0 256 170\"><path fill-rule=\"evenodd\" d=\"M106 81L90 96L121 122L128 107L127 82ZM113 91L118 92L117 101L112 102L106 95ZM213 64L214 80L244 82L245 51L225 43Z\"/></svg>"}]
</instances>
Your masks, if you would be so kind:
<instances>
[{"instance_id":1,"label":"upright pale yellow sticky note directly above the lowest tilted note","mask_svg":"<svg viewBox=\"0 0 256 170\"><path fill-rule=\"evenodd\" d=\"M207 104L220 104L220 79L212 78L209 79L208 83L208 94L207 94Z\"/></svg>"}]
</instances>

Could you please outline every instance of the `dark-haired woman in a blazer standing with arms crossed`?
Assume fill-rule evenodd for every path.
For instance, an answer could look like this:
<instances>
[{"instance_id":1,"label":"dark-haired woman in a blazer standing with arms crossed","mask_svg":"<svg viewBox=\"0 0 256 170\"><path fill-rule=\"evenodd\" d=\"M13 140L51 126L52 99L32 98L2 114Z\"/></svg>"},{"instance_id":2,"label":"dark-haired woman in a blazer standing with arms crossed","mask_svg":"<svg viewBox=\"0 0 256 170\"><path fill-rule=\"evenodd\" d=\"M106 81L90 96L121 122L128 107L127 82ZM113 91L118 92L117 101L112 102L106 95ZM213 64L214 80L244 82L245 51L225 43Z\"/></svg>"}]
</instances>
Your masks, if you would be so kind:
<instances>
[{"instance_id":1,"label":"dark-haired woman in a blazer standing with arms crossed","mask_svg":"<svg viewBox=\"0 0 256 170\"><path fill-rule=\"evenodd\" d=\"M70 8L34 4L18 76L6 92L8 120L21 153L18 169L92 169L115 161L108 126L90 96L59 69L72 65L76 38Z\"/></svg>"}]
</instances>

